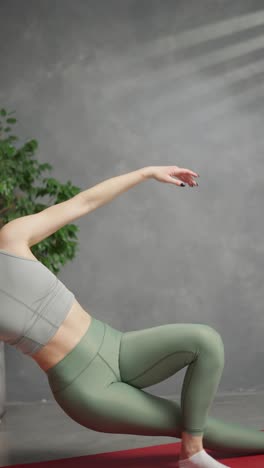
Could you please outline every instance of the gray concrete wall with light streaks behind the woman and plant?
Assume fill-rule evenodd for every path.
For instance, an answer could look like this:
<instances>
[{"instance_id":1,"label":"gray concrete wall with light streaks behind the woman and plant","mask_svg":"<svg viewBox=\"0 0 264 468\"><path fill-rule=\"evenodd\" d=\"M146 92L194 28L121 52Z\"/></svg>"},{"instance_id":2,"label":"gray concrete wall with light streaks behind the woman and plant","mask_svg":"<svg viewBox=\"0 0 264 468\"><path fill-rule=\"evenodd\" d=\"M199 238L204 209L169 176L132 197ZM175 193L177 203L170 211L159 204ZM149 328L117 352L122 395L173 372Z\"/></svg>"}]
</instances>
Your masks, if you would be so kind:
<instances>
[{"instance_id":1,"label":"gray concrete wall with light streaks behind the woman and plant","mask_svg":"<svg viewBox=\"0 0 264 468\"><path fill-rule=\"evenodd\" d=\"M199 189L150 180L78 220L59 278L123 331L216 328L219 393L264 388L263 32L260 0L0 3L0 105L54 177L84 190L147 165L201 174ZM7 400L52 398L5 349ZM148 391L180 393L184 373Z\"/></svg>"}]
</instances>

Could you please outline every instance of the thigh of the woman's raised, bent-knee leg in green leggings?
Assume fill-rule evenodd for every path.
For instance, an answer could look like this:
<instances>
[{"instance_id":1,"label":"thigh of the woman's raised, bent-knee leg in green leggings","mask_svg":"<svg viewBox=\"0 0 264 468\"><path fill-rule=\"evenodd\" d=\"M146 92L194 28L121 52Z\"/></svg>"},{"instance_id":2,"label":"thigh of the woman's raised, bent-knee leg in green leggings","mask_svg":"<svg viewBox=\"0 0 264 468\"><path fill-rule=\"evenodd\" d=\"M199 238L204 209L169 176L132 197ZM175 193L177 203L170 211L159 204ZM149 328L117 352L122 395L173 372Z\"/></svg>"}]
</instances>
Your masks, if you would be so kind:
<instances>
[{"instance_id":1,"label":"thigh of the woman's raised, bent-knee leg in green leggings","mask_svg":"<svg viewBox=\"0 0 264 468\"><path fill-rule=\"evenodd\" d=\"M201 346L208 351L218 333L203 324L169 323L122 334L119 368L137 388L157 384L191 364Z\"/></svg>"}]
</instances>

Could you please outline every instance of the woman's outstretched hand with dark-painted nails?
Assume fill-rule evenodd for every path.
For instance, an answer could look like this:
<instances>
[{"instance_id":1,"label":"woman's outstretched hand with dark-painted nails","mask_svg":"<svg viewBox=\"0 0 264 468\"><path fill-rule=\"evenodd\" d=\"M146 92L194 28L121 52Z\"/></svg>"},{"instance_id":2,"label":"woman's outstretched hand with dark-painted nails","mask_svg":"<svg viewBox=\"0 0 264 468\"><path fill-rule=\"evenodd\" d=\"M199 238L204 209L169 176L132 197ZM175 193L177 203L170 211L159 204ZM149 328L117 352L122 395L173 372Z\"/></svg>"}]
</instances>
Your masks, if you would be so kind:
<instances>
[{"instance_id":1,"label":"woman's outstretched hand with dark-painted nails","mask_svg":"<svg viewBox=\"0 0 264 468\"><path fill-rule=\"evenodd\" d=\"M151 166L151 177L159 182L167 182L179 187L188 184L190 187L198 186L194 177L200 177L196 172L178 166ZM176 178L175 178L176 177ZM178 179L178 180L177 180Z\"/></svg>"}]
</instances>

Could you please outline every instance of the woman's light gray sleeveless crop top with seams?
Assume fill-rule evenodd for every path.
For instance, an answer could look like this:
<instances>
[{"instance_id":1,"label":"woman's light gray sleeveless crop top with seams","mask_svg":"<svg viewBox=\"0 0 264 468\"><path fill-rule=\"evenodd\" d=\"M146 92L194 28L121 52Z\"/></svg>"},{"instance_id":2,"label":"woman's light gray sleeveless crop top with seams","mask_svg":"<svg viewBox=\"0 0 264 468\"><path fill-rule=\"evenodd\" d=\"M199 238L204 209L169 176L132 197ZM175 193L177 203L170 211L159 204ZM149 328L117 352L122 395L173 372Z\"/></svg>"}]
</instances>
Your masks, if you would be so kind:
<instances>
[{"instance_id":1,"label":"woman's light gray sleeveless crop top with seams","mask_svg":"<svg viewBox=\"0 0 264 468\"><path fill-rule=\"evenodd\" d=\"M55 335L75 296L43 263L0 249L0 336L34 354Z\"/></svg>"}]
</instances>

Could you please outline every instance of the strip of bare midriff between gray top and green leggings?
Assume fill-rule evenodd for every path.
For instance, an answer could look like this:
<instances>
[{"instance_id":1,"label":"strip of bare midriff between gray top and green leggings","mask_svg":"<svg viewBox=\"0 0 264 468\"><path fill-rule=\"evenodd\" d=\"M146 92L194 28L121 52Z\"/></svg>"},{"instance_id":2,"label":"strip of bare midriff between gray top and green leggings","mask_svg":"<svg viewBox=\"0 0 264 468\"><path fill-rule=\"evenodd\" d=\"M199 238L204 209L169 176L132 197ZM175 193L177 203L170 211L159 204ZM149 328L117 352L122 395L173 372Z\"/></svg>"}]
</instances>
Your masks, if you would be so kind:
<instances>
[{"instance_id":1,"label":"strip of bare midriff between gray top and green leggings","mask_svg":"<svg viewBox=\"0 0 264 468\"><path fill-rule=\"evenodd\" d=\"M67 317L51 340L29 357L47 372L68 354L81 340L91 324L91 315L75 299Z\"/></svg>"}]
</instances>

